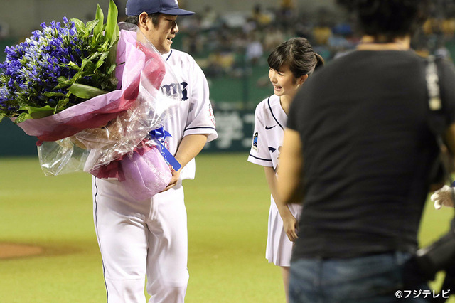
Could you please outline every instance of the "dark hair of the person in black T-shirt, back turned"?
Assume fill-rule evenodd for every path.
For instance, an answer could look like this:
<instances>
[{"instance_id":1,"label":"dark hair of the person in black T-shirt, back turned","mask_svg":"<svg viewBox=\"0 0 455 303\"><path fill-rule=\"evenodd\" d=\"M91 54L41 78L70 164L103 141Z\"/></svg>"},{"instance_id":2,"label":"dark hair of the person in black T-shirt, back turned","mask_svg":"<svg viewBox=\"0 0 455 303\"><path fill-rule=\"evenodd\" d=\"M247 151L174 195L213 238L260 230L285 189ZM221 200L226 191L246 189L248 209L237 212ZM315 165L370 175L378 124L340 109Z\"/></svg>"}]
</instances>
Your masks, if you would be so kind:
<instances>
[{"instance_id":1,"label":"dark hair of the person in black T-shirt, back turned","mask_svg":"<svg viewBox=\"0 0 455 303\"><path fill-rule=\"evenodd\" d=\"M429 12L430 0L338 0L352 11L362 35L377 43L412 35Z\"/></svg>"}]
</instances>

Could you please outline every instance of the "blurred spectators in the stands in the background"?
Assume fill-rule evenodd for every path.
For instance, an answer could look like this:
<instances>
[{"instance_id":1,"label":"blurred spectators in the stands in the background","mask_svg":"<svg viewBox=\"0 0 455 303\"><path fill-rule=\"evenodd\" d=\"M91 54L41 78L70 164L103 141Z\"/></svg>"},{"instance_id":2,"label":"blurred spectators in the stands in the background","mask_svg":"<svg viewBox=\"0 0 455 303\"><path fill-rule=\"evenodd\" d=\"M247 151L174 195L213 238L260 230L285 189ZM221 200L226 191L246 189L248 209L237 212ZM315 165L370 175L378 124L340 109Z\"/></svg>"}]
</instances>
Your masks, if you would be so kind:
<instances>
[{"instance_id":1,"label":"blurred spectators in the stands in the background","mask_svg":"<svg viewBox=\"0 0 455 303\"><path fill-rule=\"evenodd\" d=\"M446 43L454 39L455 0L435 0L431 17L412 41L422 55L436 53L449 58ZM338 8L299 11L296 1L281 0L278 8L217 14L208 4L192 18L183 18L183 50L198 60L208 77L240 77L255 65L267 65L267 55L293 36L309 39L316 53L331 60L355 48L358 38L350 16ZM245 68L246 67L246 68Z\"/></svg>"}]
</instances>

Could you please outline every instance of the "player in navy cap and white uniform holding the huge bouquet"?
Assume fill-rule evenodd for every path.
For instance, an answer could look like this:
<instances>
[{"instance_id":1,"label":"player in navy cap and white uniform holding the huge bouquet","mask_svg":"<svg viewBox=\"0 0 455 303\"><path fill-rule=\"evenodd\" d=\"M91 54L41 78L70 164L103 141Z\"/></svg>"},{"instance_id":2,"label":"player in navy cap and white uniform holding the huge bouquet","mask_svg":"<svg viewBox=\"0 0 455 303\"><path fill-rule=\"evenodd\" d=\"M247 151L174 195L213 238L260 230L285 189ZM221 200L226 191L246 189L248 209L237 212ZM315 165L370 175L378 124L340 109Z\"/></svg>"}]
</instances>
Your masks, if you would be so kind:
<instances>
[{"instance_id":1,"label":"player in navy cap and white uniform holding the huge bouquet","mask_svg":"<svg viewBox=\"0 0 455 303\"><path fill-rule=\"evenodd\" d=\"M166 189L136 201L114 179L92 178L95 230L102 255L107 302L184 302L188 284L188 240L182 179L193 179L194 157L218 137L203 71L188 54L171 49L177 16L194 14L177 0L128 0L127 20L134 23L173 68L182 100L164 129L165 146L182 169L172 172Z\"/></svg>"}]
</instances>

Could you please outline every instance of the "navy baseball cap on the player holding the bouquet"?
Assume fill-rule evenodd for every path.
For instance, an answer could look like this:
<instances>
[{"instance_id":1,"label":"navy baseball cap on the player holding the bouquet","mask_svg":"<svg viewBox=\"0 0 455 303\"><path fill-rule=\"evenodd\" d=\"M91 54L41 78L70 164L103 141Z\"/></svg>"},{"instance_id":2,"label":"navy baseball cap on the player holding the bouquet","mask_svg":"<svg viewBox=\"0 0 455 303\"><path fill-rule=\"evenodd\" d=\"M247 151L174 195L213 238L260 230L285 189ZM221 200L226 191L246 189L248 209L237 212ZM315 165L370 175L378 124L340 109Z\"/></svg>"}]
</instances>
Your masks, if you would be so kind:
<instances>
[{"instance_id":1,"label":"navy baseball cap on the player holding the bouquet","mask_svg":"<svg viewBox=\"0 0 455 303\"><path fill-rule=\"evenodd\" d=\"M161 13L176 16L193 15L193 11L186 11L178 7L178 0L128 0L127 16L139 16L142 12L147 14Z\"/></svg>"}]
</instances>

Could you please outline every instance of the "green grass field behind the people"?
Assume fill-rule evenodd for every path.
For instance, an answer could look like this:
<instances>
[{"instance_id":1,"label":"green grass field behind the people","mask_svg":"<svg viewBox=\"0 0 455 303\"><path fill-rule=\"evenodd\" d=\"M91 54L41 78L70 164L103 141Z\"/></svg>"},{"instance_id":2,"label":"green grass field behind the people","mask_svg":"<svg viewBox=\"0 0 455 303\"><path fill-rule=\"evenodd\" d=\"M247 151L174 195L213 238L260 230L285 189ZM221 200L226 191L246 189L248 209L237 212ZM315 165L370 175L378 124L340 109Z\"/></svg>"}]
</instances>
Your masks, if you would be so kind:
<instances>
[{"instance_id":1,"label":"green grass field behind the people","mask_svg":"<svg viewBox=\"0 0 455 303\"><path fill-rule=\"evenodd\" d=\"M284 302L279 268L264 258L267 184L263 169L246 159L201 154L196 180L184 182L188 303ZM0 301L105 302L90 175L46 177L36 158L0 158L0 172L0 243L44 248L42 255L0 260ZM427 203L422 244L445 233L451 216Z\"/></svg>"}]
</instances>

